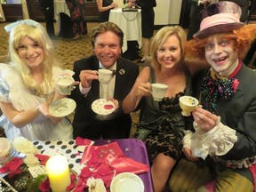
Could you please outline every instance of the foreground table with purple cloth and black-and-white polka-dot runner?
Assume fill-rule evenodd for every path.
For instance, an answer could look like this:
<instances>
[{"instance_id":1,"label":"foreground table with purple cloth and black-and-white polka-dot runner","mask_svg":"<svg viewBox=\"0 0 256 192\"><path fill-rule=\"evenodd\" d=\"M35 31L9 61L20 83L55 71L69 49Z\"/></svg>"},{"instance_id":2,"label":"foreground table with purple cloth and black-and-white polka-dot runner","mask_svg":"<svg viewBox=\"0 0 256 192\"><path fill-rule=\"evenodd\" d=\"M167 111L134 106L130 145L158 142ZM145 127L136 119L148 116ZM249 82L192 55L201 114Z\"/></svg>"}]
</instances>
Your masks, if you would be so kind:
<instances>
[{"instance_id":1,"label":"foreground table with purple cloth and black-and-white polka-dot runner","mask_svg":"<svg viewBox=\"0 0 256 192\"><path fill-rule=\"evenodd\" d=\"M148 164L148 155L145 144L141 140L136 139L118 139L118 140L94 140L93 146L106 145L111 142L117 142L122 149L124 156L130 157L133 160L142 164ZM69 167L76 171L78 174L84 167L84 164L80 164L82 159L82 153L84 152L82 146L76 146L75 140L68 141L34 141L36 148L41 153L45 154L45 151L58 150L60 154L68 157ZM128 150L127 150L128 148ZM81 153L81 156L77 156ZM153 183L151 179L150 169L149 172L139 175L144 182L145 191L153 192Z\"/></svg>"}]
</instances>

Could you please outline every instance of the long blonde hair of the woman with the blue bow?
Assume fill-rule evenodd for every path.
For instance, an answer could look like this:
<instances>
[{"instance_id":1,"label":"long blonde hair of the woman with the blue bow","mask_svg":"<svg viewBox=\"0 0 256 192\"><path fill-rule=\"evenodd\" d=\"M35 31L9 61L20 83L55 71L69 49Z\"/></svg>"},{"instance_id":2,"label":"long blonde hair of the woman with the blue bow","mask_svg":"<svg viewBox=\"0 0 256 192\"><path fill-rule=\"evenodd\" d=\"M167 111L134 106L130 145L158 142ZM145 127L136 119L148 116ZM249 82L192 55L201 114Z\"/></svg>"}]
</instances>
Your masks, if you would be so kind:
<instances>
[{"instance_id":1,"label":"long blonde hair of the woman with the blue bow","mask_svg":"<svg viewBox=\"0 0 256 192\"><path fill-rule=\"evenodd\" d=\"M18 47L23 39L28 36L33 41L38 43L44 49L44 60L42 63L42 74L44 76L41 84L36 84L36 81L31 75L31 71L24 63L18 54ZM58 67L59 64L54 57L54 49L52 41L47 35L44 27L39 23L36 25L20 24L16 28L13 28L9 38L9 55L12 61L12 65L17 68L22 76L24 83L35 92L38 96L47 96L54 91L54 84L52 81L52 69Z\"/></svg>"}]
</instances>

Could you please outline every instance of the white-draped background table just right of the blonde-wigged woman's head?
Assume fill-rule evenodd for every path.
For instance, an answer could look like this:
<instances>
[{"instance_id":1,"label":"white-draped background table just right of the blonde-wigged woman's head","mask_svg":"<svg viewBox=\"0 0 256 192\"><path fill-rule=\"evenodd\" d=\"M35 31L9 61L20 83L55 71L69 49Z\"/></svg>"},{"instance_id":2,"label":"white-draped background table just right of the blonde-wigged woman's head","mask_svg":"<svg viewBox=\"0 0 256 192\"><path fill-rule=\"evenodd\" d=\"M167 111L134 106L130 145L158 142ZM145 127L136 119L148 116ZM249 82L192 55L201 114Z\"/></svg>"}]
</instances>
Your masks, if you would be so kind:
<instances>
[{"instance_id":1,"label":"white-draped background table just right of the blonde-wigged woman's head","mask_svg":"<svg viewBox=\"0 0 256 192\"><path fill-rule=\"evenodd\" d=\"M65 0L53 1L53 8L54 8L54 19L56 20L56 26L57 26L57 34L59 34L60 33L60 12L64 12L69 17L70 17L70 12L68 10L68 6Z\"/></svg>"}]
</instances>

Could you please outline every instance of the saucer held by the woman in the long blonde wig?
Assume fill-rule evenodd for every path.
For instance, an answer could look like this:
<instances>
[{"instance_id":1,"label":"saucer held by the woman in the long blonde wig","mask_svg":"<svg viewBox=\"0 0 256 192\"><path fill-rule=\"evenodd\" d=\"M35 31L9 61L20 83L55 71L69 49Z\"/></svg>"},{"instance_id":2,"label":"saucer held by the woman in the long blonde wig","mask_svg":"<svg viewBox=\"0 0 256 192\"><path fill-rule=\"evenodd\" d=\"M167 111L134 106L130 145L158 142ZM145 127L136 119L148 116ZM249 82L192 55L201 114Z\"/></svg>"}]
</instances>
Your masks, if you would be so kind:
<instances>
[{"instance_id":1,"label":"saucer held by the woman in the long blonde wig","mask_svg":"<svg viewBox=\"0 0 256 192\"><path fill-rule=\"evenodd\" d=\"M69 98L62 98L60 100L55 100L49 106L49 113L52 116L63 117L71 114L76 108L75 100Z\"/></svg>"}]
</instances>

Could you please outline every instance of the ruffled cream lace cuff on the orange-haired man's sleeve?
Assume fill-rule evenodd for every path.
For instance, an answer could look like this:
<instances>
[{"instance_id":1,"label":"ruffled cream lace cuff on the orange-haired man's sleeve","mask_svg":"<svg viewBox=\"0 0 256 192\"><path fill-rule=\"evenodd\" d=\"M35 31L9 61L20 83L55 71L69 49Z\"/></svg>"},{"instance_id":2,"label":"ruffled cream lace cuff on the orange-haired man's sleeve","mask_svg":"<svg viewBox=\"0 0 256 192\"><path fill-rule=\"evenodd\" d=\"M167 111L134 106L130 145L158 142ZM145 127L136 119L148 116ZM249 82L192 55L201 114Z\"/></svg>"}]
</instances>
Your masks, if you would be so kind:
<instances>
[{"instance_id":1,"label":"ruffled cream lace cuff on the orange-haired man's sleeve","mask_svg":"<svg viewBox=\"0 0 256 192\"><path fill-rule=\"evenodd\" d=\"M210 154L224 156L237 140L236 130L222 124L220 116L217 125L209 132L203 132L194 122L196 132L191 136L190 149L193 156L203 159Z\"/></svg>"}]
</instances>

